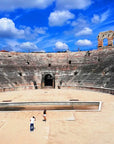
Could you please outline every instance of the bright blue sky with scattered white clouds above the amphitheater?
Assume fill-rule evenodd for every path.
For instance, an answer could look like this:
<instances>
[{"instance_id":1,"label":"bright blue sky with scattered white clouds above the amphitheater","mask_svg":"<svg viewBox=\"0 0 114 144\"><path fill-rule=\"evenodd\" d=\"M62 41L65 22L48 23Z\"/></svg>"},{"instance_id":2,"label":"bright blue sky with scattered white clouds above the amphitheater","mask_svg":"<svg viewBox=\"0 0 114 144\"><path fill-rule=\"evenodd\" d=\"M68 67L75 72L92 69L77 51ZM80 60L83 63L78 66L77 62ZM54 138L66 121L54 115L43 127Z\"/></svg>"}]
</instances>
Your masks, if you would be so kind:
<instances>
[{"instance_id":1,"label":"bright blue sky with scattered white clouds above the amphitheater","mask_svg":"<svg viewBox=\"0 0 114 144\"><path fill-rule=\"evenodd\" d=\"M0 50L93 50L108 30L114 0L0 0Z\"/></svg>"}]
</instances>

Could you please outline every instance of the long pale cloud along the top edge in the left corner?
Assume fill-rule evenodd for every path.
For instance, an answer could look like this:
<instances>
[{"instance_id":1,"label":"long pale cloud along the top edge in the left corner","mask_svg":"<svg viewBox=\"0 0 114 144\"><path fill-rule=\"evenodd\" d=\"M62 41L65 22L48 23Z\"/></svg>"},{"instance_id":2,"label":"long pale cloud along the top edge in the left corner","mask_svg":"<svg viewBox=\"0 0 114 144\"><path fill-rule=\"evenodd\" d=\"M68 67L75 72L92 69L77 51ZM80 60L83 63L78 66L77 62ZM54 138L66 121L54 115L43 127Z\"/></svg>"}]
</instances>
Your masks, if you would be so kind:
<instances>
[{"instance_id":1,"label":"long pale cloud along the top edge in the left corner","mask_svg":"<svg viewBox=\"0 0 114 144\"><path fill-rule=\"evenodd\" d=\"M0 0L0 11L10 11L17 8L40 8L44 9L51 5L54 0Z\"/></svg>"}]
</instances>

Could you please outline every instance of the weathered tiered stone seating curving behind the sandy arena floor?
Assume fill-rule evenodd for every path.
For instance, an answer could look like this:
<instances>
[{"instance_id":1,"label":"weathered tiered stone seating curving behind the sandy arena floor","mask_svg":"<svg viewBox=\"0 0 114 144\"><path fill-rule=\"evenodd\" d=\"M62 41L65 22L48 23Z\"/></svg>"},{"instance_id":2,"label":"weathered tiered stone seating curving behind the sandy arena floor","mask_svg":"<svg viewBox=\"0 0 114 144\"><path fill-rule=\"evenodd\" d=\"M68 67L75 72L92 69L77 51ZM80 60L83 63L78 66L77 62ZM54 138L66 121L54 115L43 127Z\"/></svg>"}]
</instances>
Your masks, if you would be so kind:
<instances>
[{"instance_id":1,"label":"weathered tiered stone seating curving behind the sandy arena floor","mask_svg":"<svg viewBox=\"0 0 114 144\"><path fill-rule=\"evenodd\" d=\"M48 83L49 78L49 83ZM0 88L114 88L114 49L66 53L0 52Z\"/></svg>"}]
</instances>

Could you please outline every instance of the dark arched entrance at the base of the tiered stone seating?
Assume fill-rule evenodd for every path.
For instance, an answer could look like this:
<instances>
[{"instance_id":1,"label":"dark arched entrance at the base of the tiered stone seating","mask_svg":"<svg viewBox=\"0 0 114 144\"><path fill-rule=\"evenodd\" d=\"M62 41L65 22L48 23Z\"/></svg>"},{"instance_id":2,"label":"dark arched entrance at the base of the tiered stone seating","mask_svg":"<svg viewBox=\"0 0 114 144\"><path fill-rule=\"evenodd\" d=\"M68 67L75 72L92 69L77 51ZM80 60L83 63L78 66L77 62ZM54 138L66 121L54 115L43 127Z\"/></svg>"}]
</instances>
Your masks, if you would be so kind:
<instances>
[{"instance_id":1,"label":"dark arched entrance at the base of the tiered stone seating","mask_svg":"<svg viewBox=\"0 0 114 144\"><path fill-rule=\"evenodd\" d=\"M42 88L55 88L55 78L52 74L45 74L42 76Z\"/></svg>"}]
</instances>

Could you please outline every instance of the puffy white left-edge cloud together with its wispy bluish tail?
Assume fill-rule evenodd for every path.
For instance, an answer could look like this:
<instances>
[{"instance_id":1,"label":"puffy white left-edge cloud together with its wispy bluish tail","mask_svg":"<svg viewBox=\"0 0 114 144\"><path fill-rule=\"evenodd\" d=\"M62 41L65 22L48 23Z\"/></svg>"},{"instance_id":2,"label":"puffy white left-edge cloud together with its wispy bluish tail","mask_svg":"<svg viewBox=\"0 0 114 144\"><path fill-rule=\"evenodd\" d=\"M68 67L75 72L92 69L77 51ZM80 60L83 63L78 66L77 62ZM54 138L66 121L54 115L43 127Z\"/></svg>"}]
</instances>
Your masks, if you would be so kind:
<instances>
[{"instance_id":1,"label":"puffy white left-edge cloud together with its wispy bluish tail","mask_svg":"<svg viewBox=\"0 0 114 144\"><path fill-rule=\"evenodd\" d=\"M35 39L40 35L46 33L46 27L35 27L31 29L30 27L20 26L20 29L17 29L15 23L8 18L0 19L0 37L1 38L18 38L31 40Z\"/></svg>"}]
</instances>

